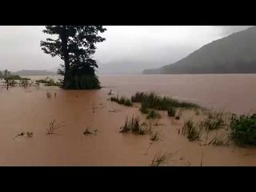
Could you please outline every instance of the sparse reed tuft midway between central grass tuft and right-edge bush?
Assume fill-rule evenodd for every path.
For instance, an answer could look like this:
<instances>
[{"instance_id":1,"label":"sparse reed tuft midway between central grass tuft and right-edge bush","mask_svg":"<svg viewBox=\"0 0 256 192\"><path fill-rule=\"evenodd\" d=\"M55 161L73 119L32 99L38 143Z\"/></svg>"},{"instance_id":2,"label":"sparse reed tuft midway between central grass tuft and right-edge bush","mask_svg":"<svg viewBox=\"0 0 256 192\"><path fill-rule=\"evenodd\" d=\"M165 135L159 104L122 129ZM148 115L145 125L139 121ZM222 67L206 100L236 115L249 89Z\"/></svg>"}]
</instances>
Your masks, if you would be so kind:
<instances>
[{"instance_id":1,"label":"sparse reed tuft midway between central grass tuft and right-edge bush","mask_svg":"<svg viewBox=\"0 0 256 192\"><path fill-rule=\"evenodd\" d=\"M184 125L182 126L182 134L186 135L186 138L190 140L190 142L199 140L202 133L202 126L198 123L194 123L191 120L186 120Z\"/></svg>"}]
</instances>

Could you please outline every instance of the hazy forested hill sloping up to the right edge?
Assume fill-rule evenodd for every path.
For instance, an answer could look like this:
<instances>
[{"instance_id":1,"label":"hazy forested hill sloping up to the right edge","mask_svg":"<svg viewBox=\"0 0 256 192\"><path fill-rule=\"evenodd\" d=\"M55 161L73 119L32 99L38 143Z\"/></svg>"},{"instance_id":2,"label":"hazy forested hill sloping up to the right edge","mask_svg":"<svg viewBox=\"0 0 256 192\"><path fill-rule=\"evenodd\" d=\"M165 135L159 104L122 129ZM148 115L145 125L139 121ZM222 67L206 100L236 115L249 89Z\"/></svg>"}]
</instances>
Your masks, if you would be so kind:
<instances>
[{"instance_id":1,"label":"hazy forested hill sloping up to the right edge","mask_svg":"<svg viewBox=\"0 0 256 192\"><path fill-rule=\"evenodd\" d=\"M210 42L174 64L144 74L256 73L256 26Z\"/></svg>"}]
</instances>

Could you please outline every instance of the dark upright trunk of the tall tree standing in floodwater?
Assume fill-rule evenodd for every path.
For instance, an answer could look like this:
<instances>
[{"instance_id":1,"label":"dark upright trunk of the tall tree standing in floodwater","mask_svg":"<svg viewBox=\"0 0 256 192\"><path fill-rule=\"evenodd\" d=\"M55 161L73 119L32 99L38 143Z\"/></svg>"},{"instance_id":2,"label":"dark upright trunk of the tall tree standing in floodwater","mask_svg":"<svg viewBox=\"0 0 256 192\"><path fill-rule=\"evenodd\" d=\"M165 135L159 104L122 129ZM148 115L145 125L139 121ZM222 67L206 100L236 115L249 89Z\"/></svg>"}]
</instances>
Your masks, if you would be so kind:
<instances>
[{"instance_id":1,"label":"dark upright trunk of the tall tree standing in floodwater","mask_svg":"<svg viewBox=\"0 0 256 192\"><path fill-rule=\"evenodd\" d=\"M64 56L64 66L65 66L63 88L66 89L67 83L69 81L69 73L70 73L69 53L67 50L68 35L66 33L66 26L63 26L61 39L62 39L62 53Z\"/></svg>"}]
</instances>

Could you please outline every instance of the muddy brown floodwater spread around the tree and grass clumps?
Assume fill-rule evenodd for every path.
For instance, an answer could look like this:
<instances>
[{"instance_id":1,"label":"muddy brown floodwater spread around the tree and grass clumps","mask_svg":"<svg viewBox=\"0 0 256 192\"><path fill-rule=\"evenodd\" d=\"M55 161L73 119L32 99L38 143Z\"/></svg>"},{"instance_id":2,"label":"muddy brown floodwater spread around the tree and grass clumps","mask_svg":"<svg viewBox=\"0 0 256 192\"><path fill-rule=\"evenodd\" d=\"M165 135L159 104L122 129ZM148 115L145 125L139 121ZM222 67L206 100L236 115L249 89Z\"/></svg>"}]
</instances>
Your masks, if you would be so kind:
<instances>
[{"instance_id":1,"label":"muddy brown floodwater spread around the tree and grass clumps","mask_svg":"<svg viewBox=\"0 0 256 192\"><path fill-rule=\"evenodd\" d=\"M169 158L163 166L200 166L202 151L203 166L256 165L255 148L200 146L178 134L185 118L200 118L193 110L177 121L160 111L163 125L154 130L161 132L161 139L150 145L149 135L119 133L126 116L139 115L142 122L148 121L139 104L129 107L107 101L110 90L126 96L152 90L243 113L256 109L256 75L102 75L100 80L105 86L101 90L0 88L0 165L149 166L155 154L166 152ZM46 98L46 90L51 98ZM57 134L46 134L54 119L64 126ZM84 135L86 127L93 133L97 130L96 134ZM14 138L26 131L33 137Z\"/></svg>"}]
</instances>

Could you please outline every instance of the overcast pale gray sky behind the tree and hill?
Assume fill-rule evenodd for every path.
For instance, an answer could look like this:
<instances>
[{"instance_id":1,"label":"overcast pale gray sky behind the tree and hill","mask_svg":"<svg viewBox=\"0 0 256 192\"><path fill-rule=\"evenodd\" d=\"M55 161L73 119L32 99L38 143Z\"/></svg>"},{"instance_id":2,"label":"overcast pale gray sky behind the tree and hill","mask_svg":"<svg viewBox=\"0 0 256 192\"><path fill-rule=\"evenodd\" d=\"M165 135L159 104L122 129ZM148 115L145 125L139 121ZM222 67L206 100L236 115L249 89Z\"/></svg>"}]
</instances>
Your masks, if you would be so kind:
<instances>
[{"instance_id":1,"label":"overcast pale gray sky behind the tree and hill","mask_svg":"<svg viewBox=\"0 0 256 192\"><path fill-rule=\"evenodd\" d=\"M250 26L105 26L94 58L102 72L139 72L164 66ZM44 26L0 26L0 70L50 70L62 60L44 54Z\"/></svg>"}]
</instances>

